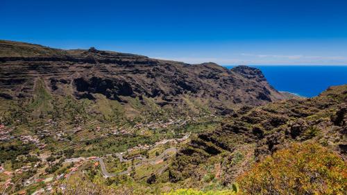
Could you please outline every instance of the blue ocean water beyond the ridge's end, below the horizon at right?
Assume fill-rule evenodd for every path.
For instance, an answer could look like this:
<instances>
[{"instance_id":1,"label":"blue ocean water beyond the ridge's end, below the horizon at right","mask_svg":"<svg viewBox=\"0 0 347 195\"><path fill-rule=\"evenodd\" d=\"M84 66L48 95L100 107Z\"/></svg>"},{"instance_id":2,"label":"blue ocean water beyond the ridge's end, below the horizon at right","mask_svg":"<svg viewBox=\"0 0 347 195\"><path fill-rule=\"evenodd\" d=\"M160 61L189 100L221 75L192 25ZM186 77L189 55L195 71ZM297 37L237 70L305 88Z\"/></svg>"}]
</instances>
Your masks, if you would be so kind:
<instances>
[{"instance_id":1,"label":"blue ocean water beyond the ridge's end, below the horizon at right","mask_svg":"<svg viewBox=\"0 0 347 195\"><path fill-rule=\"evenodd\" d=\"M257 65L250 67L260 69L276 90L305 97L317 96L332 85L347 84L347 66Z\"/></svg>"}]
</instances>

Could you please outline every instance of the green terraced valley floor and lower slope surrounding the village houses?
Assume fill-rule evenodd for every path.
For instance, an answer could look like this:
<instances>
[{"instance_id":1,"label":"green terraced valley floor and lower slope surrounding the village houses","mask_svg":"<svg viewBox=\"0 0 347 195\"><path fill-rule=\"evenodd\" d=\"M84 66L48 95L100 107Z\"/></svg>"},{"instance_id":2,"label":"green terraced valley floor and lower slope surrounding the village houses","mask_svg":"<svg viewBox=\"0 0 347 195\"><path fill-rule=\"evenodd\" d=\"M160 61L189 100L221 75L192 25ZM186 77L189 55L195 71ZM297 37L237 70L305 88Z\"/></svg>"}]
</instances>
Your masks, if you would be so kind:
<instances>
[{"instance_id":1,"label":"green terraced valley floor and lower slope surrounding the village houses","mask_svg":"<svg viewBox=\"0 0 347 195\"><path fill-rule=\"evenodd\" d=\"M60 96L53 94L44 80L37 78L33 96L22 99L1 99L0 124L4 124L3 135L8 139L0 142L0 161L10 175L0 173L0 185L9 178L19 181L13 189L6 193L18 192L20 189L28 193L46 187L45 178L59 181L58 176L69 176L78 163L65 163L68 158L103 157L106 154L124 152L135 146L151 146L164 139L178 139L189 133L212 131L219 126L220 117L206 115L201 112L192 115L180 108L183 115L177 115L178 110L172 107L161 108L151 98L128 98L128 105L106 99L102 94L96 94L96 100L75 99L73 95ZM124 158L135 158L140 155L155 158L172 144L157 146L153 150L139 149L126 153ZM25 143L24 143L25 142ZM177 143L176 143L177 144ZM74 183L69 186L69 194L90 194L90 188L98 188L103 194L119 194L124 183L133 194L143 194L146 179L152 173L159 173L156 183L167 182L167 167L174 155L171 153L158 160L158 164L143 164L135 168L141 160L119 162L116 156L105 160L105 166L110 173L119 173L133 167L130 176L101 179L99 167L78 167L85 170L88 176L86 183ZM80 170L78 170L80 171ZM77 171L77 172L78 172ZM164 173L162 173L164 172ZM77 174L75 172L72 175ZM62 175L62 176L61 176ZM64 178L60 178L64 180ZM38 181L37 181L38 180ZM96 181L99 180L99 184ZM28 182L28 186L23 184ZM148 194L161 192L160 185L148 185ZM117 184L119 186L115 187ZM136 187L133 185L136 184ZM87 186L85 191L81 191ZM117 191L119 189L119 191ZM74 191L77 190L77 191ZM76 193L75 193L76 194Z\"/></svg>"}]
</instances>

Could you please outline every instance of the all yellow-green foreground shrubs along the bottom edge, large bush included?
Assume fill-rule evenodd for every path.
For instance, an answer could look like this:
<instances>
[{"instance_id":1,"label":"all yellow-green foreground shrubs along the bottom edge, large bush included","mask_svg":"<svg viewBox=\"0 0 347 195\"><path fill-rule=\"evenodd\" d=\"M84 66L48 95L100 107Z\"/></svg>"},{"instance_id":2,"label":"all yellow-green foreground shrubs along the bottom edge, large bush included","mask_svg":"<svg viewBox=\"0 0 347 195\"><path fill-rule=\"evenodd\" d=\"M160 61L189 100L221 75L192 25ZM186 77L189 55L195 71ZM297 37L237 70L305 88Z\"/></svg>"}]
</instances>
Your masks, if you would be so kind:
<instances>
[{"instance_id":1,"label":"all yellow-green foreground shrubs along the bottom edge, large bush included","mask_svg":"<svg viewBox=\"0 0 347 195\"><path fill-rule=\"evenodd\" d=\"M230 189L176 189L164 195L345 194L347 164L319 144L292 144L266 156L237 178ZM177 186L179 187L179 186ZM147 194L143 185L107 186L80 179L62 194ZM157 194L157 193L155 193Z\"/></svg>"}]
</instances>

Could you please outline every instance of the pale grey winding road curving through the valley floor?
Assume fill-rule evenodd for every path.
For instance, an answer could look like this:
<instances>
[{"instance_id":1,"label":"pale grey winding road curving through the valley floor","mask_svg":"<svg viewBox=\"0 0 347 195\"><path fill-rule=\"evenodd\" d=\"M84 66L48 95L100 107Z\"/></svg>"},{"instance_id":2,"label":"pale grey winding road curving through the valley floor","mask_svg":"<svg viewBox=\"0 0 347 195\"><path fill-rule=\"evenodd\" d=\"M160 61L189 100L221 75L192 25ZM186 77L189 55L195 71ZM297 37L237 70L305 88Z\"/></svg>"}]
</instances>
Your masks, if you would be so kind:
<instances>
[{"instance_id":1,"label":"pale grey winding road curving through the valley floor","mask_svg":"<svg viewBox=\"0 0 347 195\"><path fill-rule=\"evenodd\" d=\"M139 166L142 166L142 164L158 164L160 163L162 160L164 160L164 156L167 155L168 153L177 153L177 149L176 148L169 148L169 149L166 149L165 151L163 151L160 155L158 155L157 157L155 157L154 159L152 160L149 160L147 158L143 158L142 162L139 162L139 164L136 164L134 167L137 168ZM121 162L125 162L127 160L124 160L123 159L123 156L119 153L117 153L117 157L119 158L119 160ZM115 176L121 176L121 175L125 175L125 174L128 174L130 173L130 171L132 171L131 167L128 167L128 169L126 171L121 171L120 173L108 173L108 171L106 170L106 167L105 167L105 163L103 162L103 160L101 158L96 158L96 160L99 161L100 163L100 167L101 167L101 171L103 173L103 176L105 178L111 178L111 177L115 177ZM168 166L165 166L164 168L160 169L158 171L158 173L162 173L164 171L164 169L167 169Z\"/></svg>"}]
</instances>

